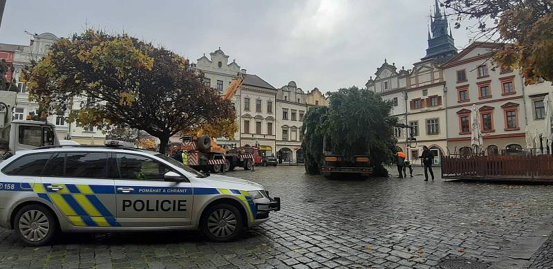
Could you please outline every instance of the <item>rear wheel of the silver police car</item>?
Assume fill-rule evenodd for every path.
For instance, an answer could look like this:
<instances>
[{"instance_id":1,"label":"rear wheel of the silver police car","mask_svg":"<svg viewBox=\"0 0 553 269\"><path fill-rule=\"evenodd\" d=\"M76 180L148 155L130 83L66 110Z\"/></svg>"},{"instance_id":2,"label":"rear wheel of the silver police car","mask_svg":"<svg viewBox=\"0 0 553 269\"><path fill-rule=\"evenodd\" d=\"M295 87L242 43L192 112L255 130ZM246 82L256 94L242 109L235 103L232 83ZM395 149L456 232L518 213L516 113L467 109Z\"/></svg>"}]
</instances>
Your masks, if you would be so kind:
<instances>
[{"instance_id":1,"label":"rear wheel of the silver police car","mask_svg":"<svg viewBox=\"0 0 553 269\"><path fill-rule=\"evenodd\" d=\"M26 205L15 215L15 232L27 245L47 244L57 230L55 216L43 205Z\"/></svg>"}]
</instances>

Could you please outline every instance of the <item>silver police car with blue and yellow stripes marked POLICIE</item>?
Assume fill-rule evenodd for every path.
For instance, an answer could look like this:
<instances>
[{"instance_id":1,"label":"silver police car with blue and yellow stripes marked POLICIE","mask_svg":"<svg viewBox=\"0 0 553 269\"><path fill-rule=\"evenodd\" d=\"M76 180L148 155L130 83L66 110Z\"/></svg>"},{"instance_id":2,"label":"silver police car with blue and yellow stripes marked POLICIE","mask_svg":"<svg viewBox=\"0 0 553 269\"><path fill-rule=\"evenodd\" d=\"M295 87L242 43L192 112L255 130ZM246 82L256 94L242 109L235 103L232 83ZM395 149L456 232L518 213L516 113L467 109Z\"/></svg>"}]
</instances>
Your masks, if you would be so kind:
<instances>
[{"instance_id":1,"label":"silver police car with blue and yellow stripes marked POLICIE","mask_svg":"<svg viewBox=\"0 0 553 269\"><path fill-rule=\"evenodd\" d=\"M28 245L58 231L199 229L230 241L278 210L262 185L200 174L153 151L59 145L0 163L0 226Z\"/></svg>"}]
</instances>

